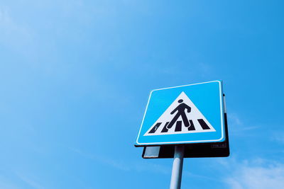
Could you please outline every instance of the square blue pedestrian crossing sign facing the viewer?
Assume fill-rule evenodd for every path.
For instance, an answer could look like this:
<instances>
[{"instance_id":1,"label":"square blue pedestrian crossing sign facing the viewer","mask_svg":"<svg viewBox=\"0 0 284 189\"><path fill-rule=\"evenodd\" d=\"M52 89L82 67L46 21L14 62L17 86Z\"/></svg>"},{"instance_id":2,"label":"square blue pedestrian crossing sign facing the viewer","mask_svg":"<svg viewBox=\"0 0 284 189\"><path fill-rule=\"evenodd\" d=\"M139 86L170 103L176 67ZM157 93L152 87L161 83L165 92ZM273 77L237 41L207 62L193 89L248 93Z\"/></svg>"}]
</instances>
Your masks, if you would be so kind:
<instances>
[{"instance_id":1,"label":"square blue pedestrian crossing sign facing the viewer","mask_svg":"<svg viewBox=\"0 0 284 189\"><path fill-rule=\"evenodd\" d=\"M151 91L136 146L224 142L222 81Z\"/></svg>"}]
</instances>

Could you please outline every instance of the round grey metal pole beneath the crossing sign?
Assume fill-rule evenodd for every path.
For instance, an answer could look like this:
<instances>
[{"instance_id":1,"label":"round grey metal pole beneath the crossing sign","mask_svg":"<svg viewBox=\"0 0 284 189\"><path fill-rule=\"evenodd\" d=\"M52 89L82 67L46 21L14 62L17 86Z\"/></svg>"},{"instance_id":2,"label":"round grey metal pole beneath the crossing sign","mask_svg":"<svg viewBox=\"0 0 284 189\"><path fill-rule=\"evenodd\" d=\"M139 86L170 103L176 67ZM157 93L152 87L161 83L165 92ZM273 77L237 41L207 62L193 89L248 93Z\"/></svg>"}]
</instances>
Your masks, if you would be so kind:
<instances>
[{"instance_id":1,"label":"round grey metal pole beneath the crossing sign","mask_svg":"<svg viewBox=\"0 0 284 189\"><path fill-rule=\"evenodd\" d=\"M170 179L170 189L180 189L182 181L182 165L184 146L175 146L175 156L173 158L172 178Z\"/></svg>"}]
</instances>

